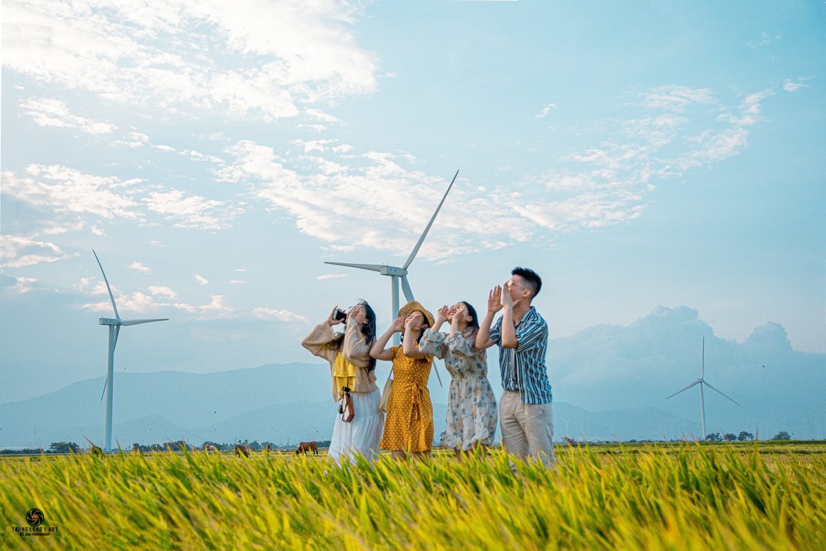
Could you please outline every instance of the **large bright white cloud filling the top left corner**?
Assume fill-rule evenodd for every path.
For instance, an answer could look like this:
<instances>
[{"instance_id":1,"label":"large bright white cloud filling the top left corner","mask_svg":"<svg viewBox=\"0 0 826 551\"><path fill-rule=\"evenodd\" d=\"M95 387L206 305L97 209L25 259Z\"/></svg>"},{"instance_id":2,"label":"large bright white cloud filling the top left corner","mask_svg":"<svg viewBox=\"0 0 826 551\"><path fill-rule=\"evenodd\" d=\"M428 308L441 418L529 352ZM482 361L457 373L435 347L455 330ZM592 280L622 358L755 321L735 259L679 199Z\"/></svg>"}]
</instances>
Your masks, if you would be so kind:
<instances>
[{"instance_id":1,"label":"large bright white cloud filling the top left corner","mask_svg":"<svg viewBox=\"0 0 826 551\"><path fill-rule=\"evenodd\" d=\"M3 64L107 101L273 121L373 92L358 15L325 0L9 0Z\"/></svg>"}]
</instances>

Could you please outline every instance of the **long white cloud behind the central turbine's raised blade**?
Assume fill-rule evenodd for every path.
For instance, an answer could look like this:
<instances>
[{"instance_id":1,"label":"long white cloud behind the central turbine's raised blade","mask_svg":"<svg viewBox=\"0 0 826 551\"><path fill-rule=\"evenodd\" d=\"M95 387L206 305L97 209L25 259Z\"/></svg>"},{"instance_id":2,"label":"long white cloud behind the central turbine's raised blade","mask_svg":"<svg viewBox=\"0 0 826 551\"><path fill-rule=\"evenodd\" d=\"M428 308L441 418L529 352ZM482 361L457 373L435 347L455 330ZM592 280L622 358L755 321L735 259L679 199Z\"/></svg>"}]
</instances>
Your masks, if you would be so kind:
<instances>
[{"instance_id":1,"label":"long white cloud behind the central turbine's raised blade","mask_svg":"<svg viewBox=\"0 0 826 551\"><path fill-rule=\"evenodd\" d=\"M303 149L303 142L297 145ZM326 157L304 157L322 168L309 175L288 168L272 148L250 140L230 147L227 153L234 160L216 171L217 178L242 183L254 199L288 211L302 232L335 246L357 245L399 255L409 253L449 183L405 169L395 154L376 151L351 155L349 164L336 163L335 171L322 168L329 166L322 164ZM388 209L388 205L405 208ZM483 220L477 212L488 217ZM421 257L447 258L477 250L479 235L527 239L530 232L515 227L519 218L500 197L478 196L456 186Z\"/></svg>"}]
</instances>

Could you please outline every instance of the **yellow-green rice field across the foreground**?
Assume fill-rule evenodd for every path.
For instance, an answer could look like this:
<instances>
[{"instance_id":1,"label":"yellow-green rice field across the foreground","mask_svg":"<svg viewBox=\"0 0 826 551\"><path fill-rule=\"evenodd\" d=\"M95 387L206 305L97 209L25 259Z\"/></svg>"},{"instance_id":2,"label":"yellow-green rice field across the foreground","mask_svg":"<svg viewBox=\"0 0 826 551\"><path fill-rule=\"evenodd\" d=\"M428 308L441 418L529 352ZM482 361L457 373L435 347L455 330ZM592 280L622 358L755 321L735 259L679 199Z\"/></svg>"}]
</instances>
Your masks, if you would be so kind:
<instances>
[{"instance_id":1,"label":"yellow-green rice field across the foreground","mask_svg":"<svg viewBox=\"0 0 826 551\"><path fill-rule=\"evenodd\" d=\"M40 537L21 536L26 511ZM826 549L823 444L558 448L337 468L203 452L0 459L3 549Z\"/></svg>"}]
</instances>

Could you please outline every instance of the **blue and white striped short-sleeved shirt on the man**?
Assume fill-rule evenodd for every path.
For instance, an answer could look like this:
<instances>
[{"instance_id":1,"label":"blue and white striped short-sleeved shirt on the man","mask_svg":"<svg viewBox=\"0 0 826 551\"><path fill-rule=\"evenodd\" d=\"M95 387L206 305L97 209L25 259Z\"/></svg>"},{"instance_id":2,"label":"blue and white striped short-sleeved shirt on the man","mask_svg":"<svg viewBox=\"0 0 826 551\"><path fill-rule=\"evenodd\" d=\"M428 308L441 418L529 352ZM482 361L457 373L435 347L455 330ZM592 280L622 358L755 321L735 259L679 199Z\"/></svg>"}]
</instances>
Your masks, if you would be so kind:
<instances>
[{"instance_id":1,"label":"blue and white striped short-sleeved shirt on the man","mask_svg":"<svg viewBox=\"0 0 826 551\"><path fill-rule=\"evenodd\" d=\"M502 388L518 391L525 404L548 404L553 399L545 353L548 351L548 324L534 306L515 325L515 349L502 346L502 316L491 327L491 340L499 346Z\"/></svg>"}]
</instances>

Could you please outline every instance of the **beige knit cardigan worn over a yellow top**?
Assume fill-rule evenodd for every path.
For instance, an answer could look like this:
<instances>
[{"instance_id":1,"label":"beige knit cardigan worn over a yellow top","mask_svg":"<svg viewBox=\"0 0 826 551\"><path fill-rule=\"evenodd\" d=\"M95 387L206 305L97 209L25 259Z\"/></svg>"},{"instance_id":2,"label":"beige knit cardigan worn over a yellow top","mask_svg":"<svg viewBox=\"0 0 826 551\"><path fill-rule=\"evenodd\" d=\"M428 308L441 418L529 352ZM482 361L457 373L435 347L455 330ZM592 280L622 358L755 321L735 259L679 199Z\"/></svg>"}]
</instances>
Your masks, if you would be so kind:
<instances>
[{"instance_id":1,"label":"beige knit cardigan worn over a yellow top","mask_svg":"<svg viewBox=\"0 0 826 551\"><path fill-rule=\"evenodd\" d=\"M336 388L335 377L333 376L333 369L335 363L335 356L339 354L339 350L331 348L329 343L335 340L336 335L333 328L326 321L310 331L310 335L306 335L301 341L301 346L310 350L311 354L327 360L330 363L330 382L333 386L333 400L341 400L341 389ZM376 384L375 370L368 371L370 365L370 347L367 344L367 339L363 337L361 328L358 324L350 320L347 322L347 329L344 330L344 342L341 345L341 355L349 363L356 367L356 382L352 392L373 392L378 390Z\"/></svg>"}]
</instances>

